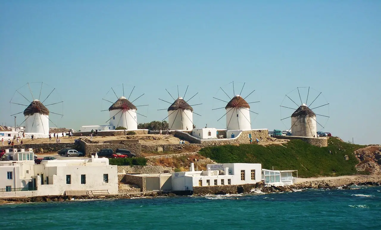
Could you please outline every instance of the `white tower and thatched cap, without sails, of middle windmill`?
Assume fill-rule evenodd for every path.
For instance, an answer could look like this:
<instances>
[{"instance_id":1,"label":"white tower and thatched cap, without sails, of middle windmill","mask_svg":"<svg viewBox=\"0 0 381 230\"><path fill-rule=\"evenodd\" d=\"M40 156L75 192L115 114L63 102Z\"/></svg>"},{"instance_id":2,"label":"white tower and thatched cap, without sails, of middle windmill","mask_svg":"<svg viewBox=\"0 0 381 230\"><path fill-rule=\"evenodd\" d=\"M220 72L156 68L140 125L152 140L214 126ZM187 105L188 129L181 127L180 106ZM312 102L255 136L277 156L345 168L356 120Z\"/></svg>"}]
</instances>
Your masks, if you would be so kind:
<instances>
[{"instance_id":1,"label":"white tower and thatched cap, without sails, of middle windmill","mask_svg":"<svg viewBox=\"0 0 381 230\"><path fill-rule=\"evenodd\" d=\"M170 130L192 130L193 108L184 99L177 98L167 111Z\"/></svg>"}]
</instances>

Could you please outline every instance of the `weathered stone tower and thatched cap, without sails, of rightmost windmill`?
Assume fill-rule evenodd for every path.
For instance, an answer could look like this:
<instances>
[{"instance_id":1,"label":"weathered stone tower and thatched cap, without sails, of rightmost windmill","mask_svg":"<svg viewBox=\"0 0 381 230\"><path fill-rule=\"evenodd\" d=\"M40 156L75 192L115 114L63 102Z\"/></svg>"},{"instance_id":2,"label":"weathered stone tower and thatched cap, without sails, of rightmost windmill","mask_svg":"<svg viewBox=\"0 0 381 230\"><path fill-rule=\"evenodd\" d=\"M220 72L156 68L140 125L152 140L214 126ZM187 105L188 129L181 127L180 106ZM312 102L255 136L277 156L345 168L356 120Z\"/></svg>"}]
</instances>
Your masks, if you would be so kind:
<instances>
[{"instance_id":1,"label":"weathered stone tower and thatched cap, without sails, of rightmost windmill","mask_svg":"<svg viewBox=\"0 0 381 230\"><path fill-rule=\"evenodd\" d=\"M291 115L293 136L316 137L316 114L306 104L299 106Z\"/></svg>"}]
</instances>

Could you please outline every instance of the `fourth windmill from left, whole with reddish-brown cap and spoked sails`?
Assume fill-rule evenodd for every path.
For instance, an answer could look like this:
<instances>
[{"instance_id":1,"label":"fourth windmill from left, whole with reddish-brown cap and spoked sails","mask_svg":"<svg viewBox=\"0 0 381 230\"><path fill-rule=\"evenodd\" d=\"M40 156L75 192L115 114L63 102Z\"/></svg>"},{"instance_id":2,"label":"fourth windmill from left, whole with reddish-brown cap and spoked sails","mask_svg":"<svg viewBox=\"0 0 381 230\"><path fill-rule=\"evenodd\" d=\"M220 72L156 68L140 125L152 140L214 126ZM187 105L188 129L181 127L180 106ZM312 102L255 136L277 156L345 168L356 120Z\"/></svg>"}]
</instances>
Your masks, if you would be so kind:
<instances>
[{"instance_id":1,"label":"fourth windmill from left, whole with reddish-brown cap and spoked sails","mask_svg":"<svg viewBox=\"0 0 381 230\"><path fill-rule=\"evenodd\" d=\"M226 102L227 105L221 108L216 109L225 109L226 113L220 117L217 121L221 120L226 115L226 130L251 130L251 121L250 121L250 112L255 113L258 115L258 113L253 112L250 110L251 103L258 103L258 102L246 102L246 98L249 97L255 90L251 91L250 94L248 94L245 98L241 97L243 87L245 87L245 83L243 83L242 89L240 94L235 95L234 90L234 81L230 82L229 84L233 84L233 94L234 96L231 98L229 95L221 88L219 87L225 95L229 98L229 102L213 97L217 100L220 100L222 102ZM212 110L216 110L212 109Z\"/></svg>"}]
</instances>

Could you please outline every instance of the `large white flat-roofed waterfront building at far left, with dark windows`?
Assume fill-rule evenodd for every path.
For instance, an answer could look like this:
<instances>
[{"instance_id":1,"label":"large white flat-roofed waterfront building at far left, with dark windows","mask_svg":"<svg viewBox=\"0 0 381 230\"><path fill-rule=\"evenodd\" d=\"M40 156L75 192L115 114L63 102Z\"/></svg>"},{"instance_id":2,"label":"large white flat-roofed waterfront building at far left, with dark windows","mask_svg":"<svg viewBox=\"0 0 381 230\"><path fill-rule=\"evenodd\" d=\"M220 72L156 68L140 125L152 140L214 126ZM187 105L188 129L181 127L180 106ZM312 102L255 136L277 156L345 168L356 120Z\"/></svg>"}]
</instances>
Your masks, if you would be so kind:
<instances>
[{"instance_id":1,"label":"large white flat-roofed waterfront building at far left, with dark windows","mask_svg":"<svg viewBox=\"0 0 381 230\"><path fill-rule=\"evenodd\" d=\"M117 166L107 158L0 162L0 197L118 192ZM6 178L6 179L5 179Z\"/></svg>"}]
</instances>

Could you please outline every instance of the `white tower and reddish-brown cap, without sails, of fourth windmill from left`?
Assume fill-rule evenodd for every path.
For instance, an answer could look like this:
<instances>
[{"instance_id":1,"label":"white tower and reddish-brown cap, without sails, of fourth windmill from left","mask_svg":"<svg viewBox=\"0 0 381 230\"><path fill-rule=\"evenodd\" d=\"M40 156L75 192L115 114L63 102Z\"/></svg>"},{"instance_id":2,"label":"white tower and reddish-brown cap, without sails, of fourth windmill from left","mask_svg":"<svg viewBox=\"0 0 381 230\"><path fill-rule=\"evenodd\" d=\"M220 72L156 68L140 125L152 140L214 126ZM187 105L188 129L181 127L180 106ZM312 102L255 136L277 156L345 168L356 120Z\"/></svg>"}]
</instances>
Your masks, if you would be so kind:
<instances>
[{"instance_id":1,"label":"white tower and reddish-brown cap, without sails, of fourth windmill from left","mask_svg":"<svg viewBox=\"0 0 381 230\"><path fill-rule=\"evenodd\" d=\"M235 95L225 109L226 130L251 130L250 105L240 95Z\"/></svg>"}]
</instances>

